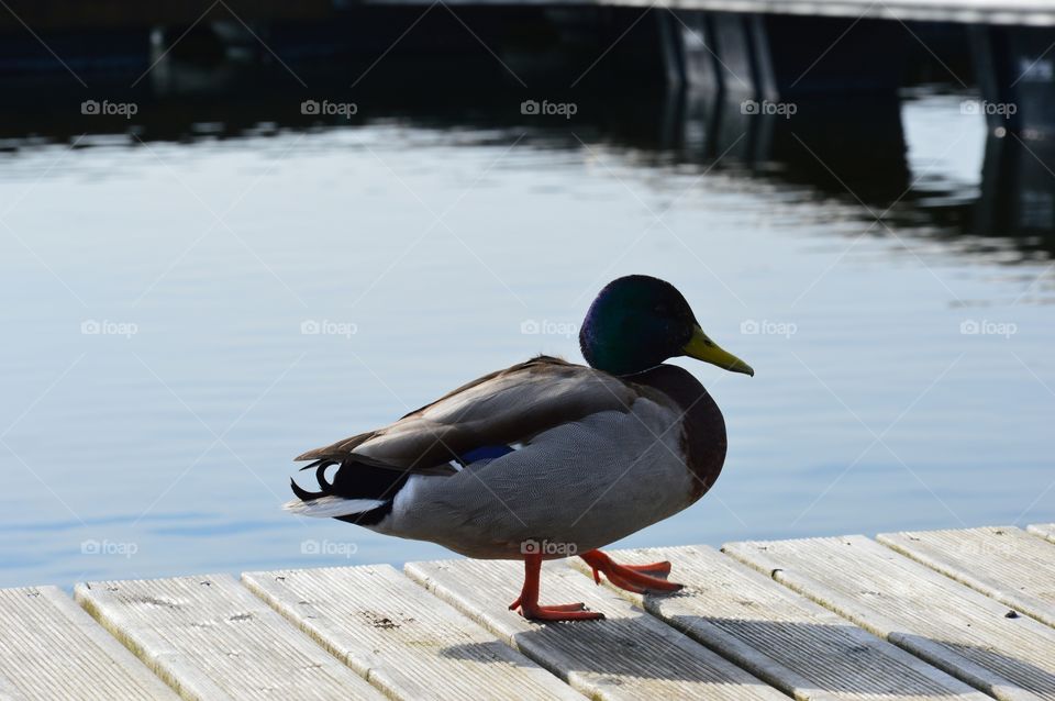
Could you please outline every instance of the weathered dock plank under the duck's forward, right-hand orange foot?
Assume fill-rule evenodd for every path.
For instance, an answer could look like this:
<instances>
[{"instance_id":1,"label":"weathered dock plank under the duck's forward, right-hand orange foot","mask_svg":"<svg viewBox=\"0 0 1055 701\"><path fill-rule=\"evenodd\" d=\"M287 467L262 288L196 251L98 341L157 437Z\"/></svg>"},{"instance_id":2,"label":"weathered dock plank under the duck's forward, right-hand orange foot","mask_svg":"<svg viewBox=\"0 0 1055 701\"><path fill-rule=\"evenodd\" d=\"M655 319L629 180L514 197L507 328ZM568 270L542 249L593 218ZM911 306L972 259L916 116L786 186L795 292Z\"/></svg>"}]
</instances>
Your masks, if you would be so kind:
<instances>
[{"instance_id":1,"label":"weathered dock plank under the duck's forward, right-hand orange foot","mask_svg":"<svg viewBox=\"0 0 1055 701\"><path fill-rule=\"evenodd\" d=\"M670 560L676 597L618 590L637 605L797 699L923 701L989 697L707 546L609 553ZM584 563L574 567L589 574Z\"/></svg>"}]
</instances>

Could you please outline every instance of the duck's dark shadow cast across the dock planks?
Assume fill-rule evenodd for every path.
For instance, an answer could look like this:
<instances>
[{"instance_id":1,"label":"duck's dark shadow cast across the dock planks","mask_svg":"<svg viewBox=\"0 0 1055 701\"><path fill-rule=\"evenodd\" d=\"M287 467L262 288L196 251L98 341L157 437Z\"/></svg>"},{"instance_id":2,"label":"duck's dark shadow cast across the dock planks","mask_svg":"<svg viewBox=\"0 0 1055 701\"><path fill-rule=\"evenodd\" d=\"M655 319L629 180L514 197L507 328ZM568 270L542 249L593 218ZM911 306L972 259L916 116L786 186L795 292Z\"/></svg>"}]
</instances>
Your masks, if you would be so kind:
<instances>
[{"instance_id":1,"label":"duck's dark shadow cast across the dock planks","mask_svg":"<svg viewBox=\"0 0 1055 701\"><path fill-rule=\"evenodd\" d=\"M955 681L951 678L945 678L944 685L935 681L935 677L942 675L929 668L940 663L912 659L911 653L907 652L941 647L949 656L958 655L986 670L995 670L991 672L993 677L999 674L1013 686L1040 694L1055 692L1055 675L1028 660L981 646L909 634L899 635L900 645L895 646L851 624L691 615L671 616L674 626L654 619L655 623L667 628L665 631L659 626L643 625L641 619L645 616L651 617L641 611L632 617L540 624L534 630L517 633L513 639L526 657L565 679L578 672L601 678L663 678L714 683L720 681L721 675L715 672L713 663L695 654L695 646L702 643L732 665L786 692L791 691L788 678L793 677L801 680L796 686L809 683L811 689L832 693L952 698L956 692L949 686ZM737 654L728 644L730 641L754 650L754 661ZM504 645L499 641L453 645L441 650L441 655L477 664L508 664L508 657L498 654ZM759 652L765 655L763 661L768 671L757 664ZM953 668L944 664L945 671ZM984 683L978 687L991 693L990 689L981 688ZM966 687L960 688L960 692L967 691Z\"/></svg>"}]
</instances>

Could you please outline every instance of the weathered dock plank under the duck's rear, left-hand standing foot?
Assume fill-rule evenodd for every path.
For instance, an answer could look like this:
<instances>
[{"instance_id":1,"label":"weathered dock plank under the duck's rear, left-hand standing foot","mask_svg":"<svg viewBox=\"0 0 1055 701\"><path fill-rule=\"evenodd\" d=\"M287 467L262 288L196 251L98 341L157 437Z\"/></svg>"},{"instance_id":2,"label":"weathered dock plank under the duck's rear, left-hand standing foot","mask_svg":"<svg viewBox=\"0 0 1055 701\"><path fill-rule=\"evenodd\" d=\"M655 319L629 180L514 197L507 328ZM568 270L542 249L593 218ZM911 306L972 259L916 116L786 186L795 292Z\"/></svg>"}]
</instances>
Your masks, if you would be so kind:
<instances>
[{"instance_id":1,"label":"weathered dock plank under the duck's rear, left-hand standing foot","mask_svg":"<svg viewBox=\"0 0 1055 701\"><path fill-rule=\"evenodd\" d=\"M523 565L510 561L410 563L407 574L575 689L596 699L780 699L735 667L564 563L543 568L542 602L581 601L603 621L540 624L508 609Z\"/></svg>"}]
</instances>

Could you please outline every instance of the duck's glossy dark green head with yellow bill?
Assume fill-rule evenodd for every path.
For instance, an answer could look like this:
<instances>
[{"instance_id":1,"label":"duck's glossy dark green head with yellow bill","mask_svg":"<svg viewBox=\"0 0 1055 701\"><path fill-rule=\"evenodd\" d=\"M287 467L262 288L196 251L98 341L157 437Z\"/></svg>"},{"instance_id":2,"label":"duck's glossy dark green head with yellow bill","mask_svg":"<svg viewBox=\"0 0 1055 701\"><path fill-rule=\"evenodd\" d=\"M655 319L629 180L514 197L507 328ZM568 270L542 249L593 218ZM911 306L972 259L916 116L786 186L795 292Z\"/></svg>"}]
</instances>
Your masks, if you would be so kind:
<instances>
[{"instance_id":1,"label":"duck's glossy dark green head with yellow bill","mask_svg":"<svg viewBox=\"0 0 1055 701\"><path fill-rule=\"evenodd\" d=\"M612 375L643 372L678 356L755 374L707 337L677 288L647 275L630 275L604 286L586 313L579 347L590 367Z\"/></svg>"}]
</instances>

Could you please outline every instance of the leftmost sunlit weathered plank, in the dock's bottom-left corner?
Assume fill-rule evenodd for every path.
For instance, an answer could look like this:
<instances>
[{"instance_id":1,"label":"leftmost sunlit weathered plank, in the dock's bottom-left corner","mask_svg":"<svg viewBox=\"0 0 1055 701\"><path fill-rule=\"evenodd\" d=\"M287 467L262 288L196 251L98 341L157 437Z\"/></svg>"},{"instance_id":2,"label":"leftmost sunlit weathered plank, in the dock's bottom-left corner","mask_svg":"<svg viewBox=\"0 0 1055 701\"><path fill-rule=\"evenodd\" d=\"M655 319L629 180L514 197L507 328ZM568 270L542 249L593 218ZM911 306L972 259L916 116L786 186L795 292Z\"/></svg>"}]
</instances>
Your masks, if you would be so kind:
<instances>
[{"instance_id":1,"label":"leftmost sunlit weathered plank, in the dock's bottom-left corner","mask_svg":"<svg viewBox=\"0 0 1055 701\"><path fill-rule=\"evenodd\" d=\"M0 589L0 699L176 699L56 587Z\"/></svg>"}]
</instances>

